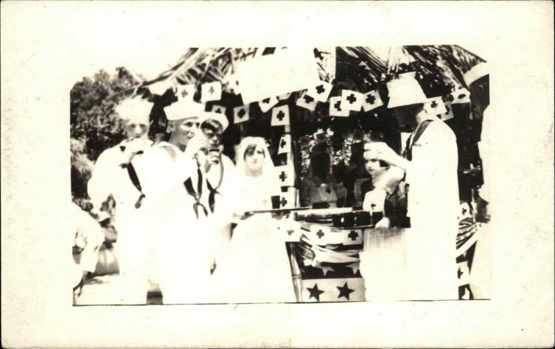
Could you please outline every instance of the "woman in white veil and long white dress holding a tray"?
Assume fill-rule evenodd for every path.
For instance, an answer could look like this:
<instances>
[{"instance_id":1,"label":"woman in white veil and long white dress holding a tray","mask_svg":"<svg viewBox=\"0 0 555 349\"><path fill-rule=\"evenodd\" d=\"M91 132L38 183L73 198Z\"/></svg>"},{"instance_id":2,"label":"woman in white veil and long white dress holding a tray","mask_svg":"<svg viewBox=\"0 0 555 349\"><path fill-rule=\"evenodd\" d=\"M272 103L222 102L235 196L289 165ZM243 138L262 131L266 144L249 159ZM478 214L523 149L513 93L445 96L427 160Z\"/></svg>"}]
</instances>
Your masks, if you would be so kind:
<instances>
[{"instance_id":1,"label":"woman in white veil and long white dress holding a tray","mask_svg":"<svg viewBox=\"0 0 555 349\"><path fill-rule=\"evenodd\" d=\"M246 137L237 153L234 217L238 222L214 277L219 303L295 302L285 242L270 213L280 185L264 138Z\"/></svg>"}]
</instances>

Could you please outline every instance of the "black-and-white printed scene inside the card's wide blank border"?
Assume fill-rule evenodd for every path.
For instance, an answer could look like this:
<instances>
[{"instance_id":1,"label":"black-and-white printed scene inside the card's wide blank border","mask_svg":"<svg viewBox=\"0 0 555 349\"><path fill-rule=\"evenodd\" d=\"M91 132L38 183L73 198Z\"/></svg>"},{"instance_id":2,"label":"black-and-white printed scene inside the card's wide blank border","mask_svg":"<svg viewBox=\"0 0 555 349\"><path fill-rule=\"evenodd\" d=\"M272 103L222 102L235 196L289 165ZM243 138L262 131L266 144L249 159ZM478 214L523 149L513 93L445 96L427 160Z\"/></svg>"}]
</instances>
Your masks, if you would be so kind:
<instances>
[{"instance_id":1,"label":"black-and-white printed scene inside the card's wide blank border","mask_svg":"<svg viewBox=\"0 0 555 349\"><path fill-rule=\"evenodd\" d=\"M74 305L489 299L479 54L186 48L83 77Z\"/></svg>"}]
</instances>

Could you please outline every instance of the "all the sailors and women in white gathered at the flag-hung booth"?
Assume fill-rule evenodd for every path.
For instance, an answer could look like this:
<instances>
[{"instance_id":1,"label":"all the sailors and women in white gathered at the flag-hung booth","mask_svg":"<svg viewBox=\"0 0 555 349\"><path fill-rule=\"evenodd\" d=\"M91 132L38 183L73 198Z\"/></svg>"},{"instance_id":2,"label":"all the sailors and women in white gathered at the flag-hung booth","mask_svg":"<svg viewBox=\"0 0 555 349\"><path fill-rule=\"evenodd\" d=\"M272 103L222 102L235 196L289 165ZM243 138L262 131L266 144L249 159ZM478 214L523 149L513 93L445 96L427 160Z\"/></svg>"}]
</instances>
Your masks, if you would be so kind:
<instances>
[{"instance_id":1,"label":"all the sailors and women in white gathered at the flag-hung booth","mask_svg":"<svg viewBox=\"0 0 555 349\"><path fill-rule=\"evenodd\" d=\"M413 299L456 299L456 138L428 113L413 76L387 87L388 109L412 134L404 154L379 139L364 144L373 190L363 209L382 212L377 229L410 227L405 243L413 256L407 260L418 263ZM146 303L149 278L160 285L164 304L295 302L277 223L290 218L268 212L281 190L264 138L243 138L232 161L222 154L225 115L180 99L164 109L168 140L153 144L147 138L151 107L138 98L117 107L126 139L99 156L88 183L92 216L117 231L119 277L110 303ZM335 207L347 195L330 178L329 157L321 155L302 180L302 206ZM104 208L110 196L114 217Z\"/></svg>"}]
</instances>

